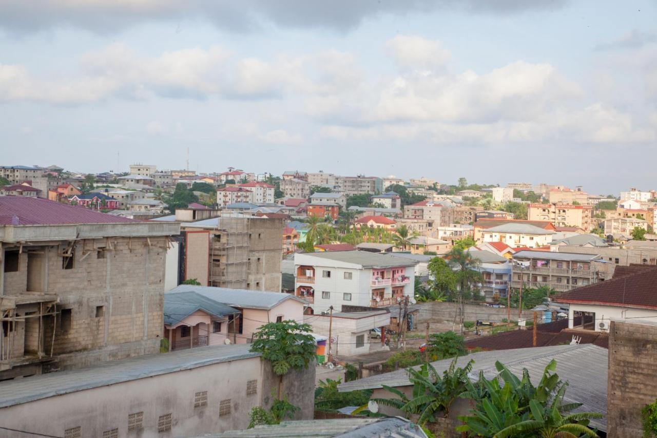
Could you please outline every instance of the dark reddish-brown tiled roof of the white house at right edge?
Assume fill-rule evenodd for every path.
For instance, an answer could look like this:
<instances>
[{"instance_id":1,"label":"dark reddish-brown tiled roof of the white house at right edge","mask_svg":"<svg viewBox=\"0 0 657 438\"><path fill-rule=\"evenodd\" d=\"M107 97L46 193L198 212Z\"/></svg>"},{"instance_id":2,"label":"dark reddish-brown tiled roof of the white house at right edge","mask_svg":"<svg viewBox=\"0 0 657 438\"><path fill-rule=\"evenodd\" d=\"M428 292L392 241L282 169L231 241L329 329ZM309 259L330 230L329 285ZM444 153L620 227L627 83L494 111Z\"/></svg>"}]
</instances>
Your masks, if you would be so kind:
<instances>
[{"instance_id":1,"label":"dark reddish-brown tiled roof of the white house at right edge","mask_svg":"<svg viewBox=\"0 0 657 438\"><path fill-rule=\"evenodd\" d=\"M657 267L621 275L607 281L578 287L556 295L556 303L601 304L634 308L657 309Z\"/></svg>"}]
</instances>

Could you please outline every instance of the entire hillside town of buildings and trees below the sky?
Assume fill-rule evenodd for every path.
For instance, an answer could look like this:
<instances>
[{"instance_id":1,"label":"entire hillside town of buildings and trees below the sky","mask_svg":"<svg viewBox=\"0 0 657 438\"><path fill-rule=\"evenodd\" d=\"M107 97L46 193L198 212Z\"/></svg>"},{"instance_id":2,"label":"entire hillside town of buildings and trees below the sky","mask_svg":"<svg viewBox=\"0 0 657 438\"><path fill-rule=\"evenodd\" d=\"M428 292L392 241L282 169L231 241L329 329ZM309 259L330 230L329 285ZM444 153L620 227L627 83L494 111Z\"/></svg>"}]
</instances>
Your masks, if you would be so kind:
<instances>
[{"instance_id":1,"label":"entire hillside town of buildings and trees below the sky","mask_svg":"<svg viewBox=\"0 0 657 438\"><path fill-rule=\"evenodd\" d=\"M594 435L654 401L655 191L0 169L0 435L461 436L488 396L459 391L507 369Z\"/></svg>"}]
</instances>

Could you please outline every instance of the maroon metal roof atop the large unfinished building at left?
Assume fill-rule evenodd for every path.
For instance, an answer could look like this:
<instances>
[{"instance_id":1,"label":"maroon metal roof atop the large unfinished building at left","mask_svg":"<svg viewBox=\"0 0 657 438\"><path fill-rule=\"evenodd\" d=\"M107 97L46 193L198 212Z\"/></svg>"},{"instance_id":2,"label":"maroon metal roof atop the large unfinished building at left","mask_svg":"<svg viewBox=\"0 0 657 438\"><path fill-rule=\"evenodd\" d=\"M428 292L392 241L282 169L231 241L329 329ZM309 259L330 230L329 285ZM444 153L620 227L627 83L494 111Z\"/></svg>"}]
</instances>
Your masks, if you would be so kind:
<instances>
[{"instance_id":1,"label":"maroon metal roof atop the large unfinished building at left","mask_svg":"<svg viewBox=\"0 0 657 438\"><path fill-rule=\"evenodd\" d=\"M114 224L141 222L41 198L0 197L0 225Z\"/></svg>"}]
</instances>

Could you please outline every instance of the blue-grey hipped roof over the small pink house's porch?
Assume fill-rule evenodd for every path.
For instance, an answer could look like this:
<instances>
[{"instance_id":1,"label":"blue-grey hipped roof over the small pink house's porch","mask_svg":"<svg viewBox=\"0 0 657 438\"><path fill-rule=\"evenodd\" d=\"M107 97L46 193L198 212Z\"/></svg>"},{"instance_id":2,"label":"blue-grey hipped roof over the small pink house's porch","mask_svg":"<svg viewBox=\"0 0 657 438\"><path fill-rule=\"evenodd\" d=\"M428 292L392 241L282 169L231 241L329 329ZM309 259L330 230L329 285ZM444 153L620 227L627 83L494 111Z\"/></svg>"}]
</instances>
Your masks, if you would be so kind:
<instances>
[{"instance_id":1,"label":"blue-grey hipped roof over the small pink house's porch","mask_svg":"<svg viewBox=\"0 0 657 438\"><path fill-rule=\"evenodd\" d=\"M166 326L173 326L198 310L203 310L215 318L223 318L240 312L236 308L217 303L217 301L194 291L164 295L164 324Z\"/></svg>"}]
</instances>

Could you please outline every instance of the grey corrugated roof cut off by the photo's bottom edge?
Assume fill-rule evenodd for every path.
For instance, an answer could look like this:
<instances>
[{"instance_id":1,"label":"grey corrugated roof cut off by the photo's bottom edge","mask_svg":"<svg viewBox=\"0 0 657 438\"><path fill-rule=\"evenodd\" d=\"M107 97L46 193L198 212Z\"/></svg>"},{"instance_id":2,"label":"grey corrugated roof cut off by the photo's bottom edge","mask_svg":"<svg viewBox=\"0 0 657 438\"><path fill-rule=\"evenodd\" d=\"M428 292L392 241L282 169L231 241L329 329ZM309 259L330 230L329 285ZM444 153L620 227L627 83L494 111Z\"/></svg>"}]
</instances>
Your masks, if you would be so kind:
<instances>
[{"instance_id":1,"label":"grey corrugated roof cut off by the photo's bottom edge","mask_svg":"<svg viewBox=\"0 0 657 438\"><path fill-rule=\"evenodd\" d=\"M254 429L233 430L202 437L344 437L344 438L426 438L422 429L401 417L388 418L337 418L334 420L301 420L281 422L271 426L256 426Z\"/></svg>"}]
</instances>

